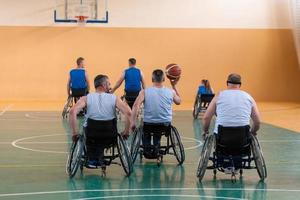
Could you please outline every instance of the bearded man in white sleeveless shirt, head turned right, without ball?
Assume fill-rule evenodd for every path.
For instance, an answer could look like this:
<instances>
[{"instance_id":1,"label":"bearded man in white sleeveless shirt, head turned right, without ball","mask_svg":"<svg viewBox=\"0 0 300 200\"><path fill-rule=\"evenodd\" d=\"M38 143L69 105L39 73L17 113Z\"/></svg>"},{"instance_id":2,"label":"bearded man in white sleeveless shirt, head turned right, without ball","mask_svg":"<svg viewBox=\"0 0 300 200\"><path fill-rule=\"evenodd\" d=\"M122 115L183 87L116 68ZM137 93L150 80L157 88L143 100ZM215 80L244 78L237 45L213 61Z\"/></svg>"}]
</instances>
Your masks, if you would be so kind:
<instances>
[{"instance_id":1,"label":"bearded man in white sleeveless shirt, head turned right, without ball","mask_svg":"<svg viewBox=\"0 0 300 200\"><path fill-rule=\"evenodd\" d=\"M87 108L84 123L89 168L101 166L104 149L112 144L117 137L116 108L125 116L125 130L123 136L127 137L130 128L131 110L116 95L108 93L110 82L107 76L98 75L94 80L96 92L81 97L70 110L70 125L73 140L78 135L76 114L84 107Z\"/></svg>"}]
</instances>

